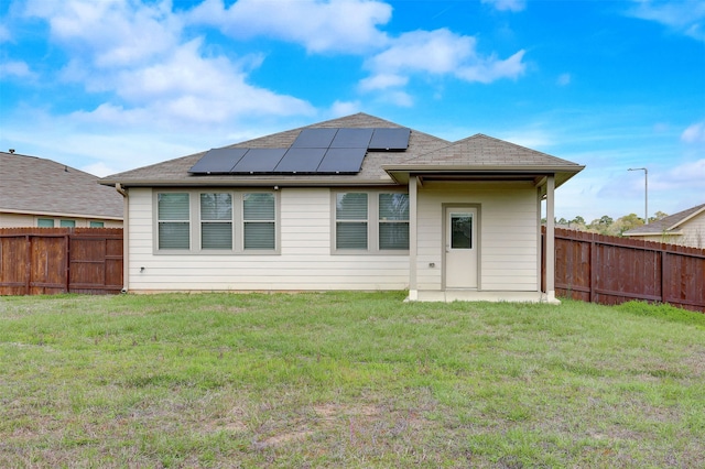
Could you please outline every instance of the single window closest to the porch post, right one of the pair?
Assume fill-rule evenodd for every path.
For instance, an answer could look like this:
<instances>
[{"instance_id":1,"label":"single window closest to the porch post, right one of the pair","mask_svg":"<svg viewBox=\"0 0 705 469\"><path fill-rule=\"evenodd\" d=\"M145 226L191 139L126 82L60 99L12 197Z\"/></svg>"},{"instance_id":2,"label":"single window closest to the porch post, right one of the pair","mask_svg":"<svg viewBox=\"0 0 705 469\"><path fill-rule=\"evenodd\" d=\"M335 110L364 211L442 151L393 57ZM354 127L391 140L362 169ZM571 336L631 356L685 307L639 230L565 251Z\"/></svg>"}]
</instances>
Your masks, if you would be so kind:
<instances>
[{"instance_id":1,"label":"single window closest to the porch post, right one of the pair","mask_svg":"<svg viewBox=\"0 0 705 469\"><path fill-rule=\"evenodd\" d=\"M379 195L379 249L409 250L409 194Z\"/></svg>"}]
</instances>

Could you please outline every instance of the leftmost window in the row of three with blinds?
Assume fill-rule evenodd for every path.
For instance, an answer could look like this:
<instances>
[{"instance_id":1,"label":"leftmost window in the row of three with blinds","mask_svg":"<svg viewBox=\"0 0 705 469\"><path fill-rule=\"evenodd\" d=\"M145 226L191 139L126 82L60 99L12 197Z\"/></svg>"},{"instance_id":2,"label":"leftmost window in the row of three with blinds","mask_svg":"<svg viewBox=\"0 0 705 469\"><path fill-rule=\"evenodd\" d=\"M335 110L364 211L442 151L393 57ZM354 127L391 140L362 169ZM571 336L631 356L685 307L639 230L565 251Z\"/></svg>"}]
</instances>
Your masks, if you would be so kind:
<instances>
[{"instance_id":1,"label":"leftmost window in the row of three with blinds","mask_svg":"<svg viewBox=\"0 0 705 469\"><path fill-rule=\"evenodd\" d=\"M187 193L159 194L159 249L189 249L189 198Z\"/></svg>"}]
</instances>

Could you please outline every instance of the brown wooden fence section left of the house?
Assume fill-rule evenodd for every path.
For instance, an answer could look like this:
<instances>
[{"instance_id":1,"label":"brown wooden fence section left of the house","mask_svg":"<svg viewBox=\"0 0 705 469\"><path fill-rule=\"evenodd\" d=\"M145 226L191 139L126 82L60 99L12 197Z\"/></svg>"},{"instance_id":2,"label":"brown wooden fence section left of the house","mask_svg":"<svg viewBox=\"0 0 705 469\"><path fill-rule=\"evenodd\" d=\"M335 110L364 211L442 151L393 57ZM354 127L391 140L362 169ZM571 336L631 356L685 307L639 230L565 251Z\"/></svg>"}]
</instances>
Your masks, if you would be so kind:
<instances>
[{"instance_id":1,"label":"brown wooden fence section left of the house","mask_svg":"<svg viewBox=\"0 0 705 469\"><path fill-rule=\"evenodd\" d=\"M121 228L0 229L0 295L121 290Z\"/></svg>"}]
</instances>

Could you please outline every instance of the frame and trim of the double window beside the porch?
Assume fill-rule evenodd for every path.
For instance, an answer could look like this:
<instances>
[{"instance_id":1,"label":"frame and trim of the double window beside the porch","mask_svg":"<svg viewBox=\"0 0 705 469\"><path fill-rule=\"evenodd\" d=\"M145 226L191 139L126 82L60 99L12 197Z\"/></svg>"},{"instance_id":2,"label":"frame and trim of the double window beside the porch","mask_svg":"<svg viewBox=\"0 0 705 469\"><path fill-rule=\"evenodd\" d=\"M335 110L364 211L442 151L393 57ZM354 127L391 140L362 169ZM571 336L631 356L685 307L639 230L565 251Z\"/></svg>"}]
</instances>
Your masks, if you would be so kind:
<instances>
[{"instance_id":1,"label":"frame and trim of the double window beside the porch","mask_svg":"<svg viewBox=\"0 0 705 469\"><path fill-rule=\"evenodd\" d=\"M338 194L367 194L367 249L337 249L337 199ZM346 188L332 190L330 197L330 253L334 255L409 255L409 249L380 249L379 248L379 225L390 222L390 220L379 219L379 196L380 194L409 194L406 190L394 189L360 189ZM412 215L409 214L411 218ZM357 220L350 220L357 221ZM362 220L360 220L362 221ZM403 222L403 220L394 220ZM411 229L411 220L408 220Z\"/></svg>"}]
</instances>

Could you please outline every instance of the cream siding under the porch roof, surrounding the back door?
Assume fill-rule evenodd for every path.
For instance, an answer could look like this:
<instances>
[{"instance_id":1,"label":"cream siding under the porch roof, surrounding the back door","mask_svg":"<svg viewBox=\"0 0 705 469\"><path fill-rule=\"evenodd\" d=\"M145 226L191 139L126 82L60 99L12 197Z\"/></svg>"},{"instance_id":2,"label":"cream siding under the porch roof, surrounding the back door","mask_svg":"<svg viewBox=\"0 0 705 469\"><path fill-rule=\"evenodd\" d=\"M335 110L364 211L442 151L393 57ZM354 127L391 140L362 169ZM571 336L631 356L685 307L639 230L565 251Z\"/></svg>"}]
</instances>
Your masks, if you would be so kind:
<instances>
[{"instance_id":1,"label":"cream siding under the porch roof, surrounding the back door","mask_svg":"<svg viewBox=\"0 0 705 469\"><path fill-rule=\"evenodd\" d=\"M443 204L479 206L479 288L538 290L538 204L529 183L425 184L419 190L419 290L443 288Z\"/></svg>"}]
</instances>

